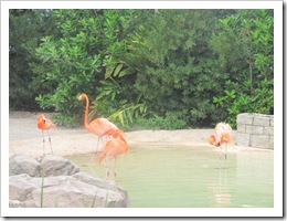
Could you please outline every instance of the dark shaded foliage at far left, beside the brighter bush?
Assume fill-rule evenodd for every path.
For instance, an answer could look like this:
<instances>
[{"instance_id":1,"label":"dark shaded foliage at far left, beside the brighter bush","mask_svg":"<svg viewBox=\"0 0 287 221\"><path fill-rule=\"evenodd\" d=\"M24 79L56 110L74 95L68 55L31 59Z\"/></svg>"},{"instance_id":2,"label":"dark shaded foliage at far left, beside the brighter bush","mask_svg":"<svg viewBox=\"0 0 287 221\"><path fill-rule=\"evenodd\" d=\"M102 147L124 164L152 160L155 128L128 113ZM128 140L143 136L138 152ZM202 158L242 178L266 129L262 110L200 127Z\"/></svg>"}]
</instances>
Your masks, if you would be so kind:
<instances>
[{"instance_id":1,"label":"dark shaded foliage at far left, beside the brighter bush","mask_svg":"<svg viewBox=\"0 0 287 221\"><path fill-rule=\"evenodd\" d=\"M40 39L46 34L56 36L57 30L49 10L9 11L9 106L13 109L38 109L35 97L45 93L33 64L41 64L35 56ZM34 72L35 71L35 72Z\"/></svg>"}]
</instances>

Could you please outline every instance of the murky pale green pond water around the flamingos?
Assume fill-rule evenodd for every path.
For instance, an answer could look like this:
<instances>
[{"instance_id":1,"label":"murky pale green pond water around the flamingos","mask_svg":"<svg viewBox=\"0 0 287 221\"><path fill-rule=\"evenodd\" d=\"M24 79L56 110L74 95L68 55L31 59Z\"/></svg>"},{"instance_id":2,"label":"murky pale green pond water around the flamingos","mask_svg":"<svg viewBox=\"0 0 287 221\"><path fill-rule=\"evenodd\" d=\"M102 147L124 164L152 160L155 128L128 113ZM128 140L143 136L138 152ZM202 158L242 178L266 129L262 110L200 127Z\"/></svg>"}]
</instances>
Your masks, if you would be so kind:
<instances>
[{"instance_id":1,"label":"murky pale green pond water around the flamingos","mask_svg":"<svg viewBox=\"0 0 287 221\"><path fill-rule=\"evenodd\" d=\"M105 164L88 167L91 157L67 158L105 178ZM134 208L273 208L273 162L272 151L230 152L225 160L210 147L131 146L117 159L116 181Z\"/></svg>"}]
</instances>

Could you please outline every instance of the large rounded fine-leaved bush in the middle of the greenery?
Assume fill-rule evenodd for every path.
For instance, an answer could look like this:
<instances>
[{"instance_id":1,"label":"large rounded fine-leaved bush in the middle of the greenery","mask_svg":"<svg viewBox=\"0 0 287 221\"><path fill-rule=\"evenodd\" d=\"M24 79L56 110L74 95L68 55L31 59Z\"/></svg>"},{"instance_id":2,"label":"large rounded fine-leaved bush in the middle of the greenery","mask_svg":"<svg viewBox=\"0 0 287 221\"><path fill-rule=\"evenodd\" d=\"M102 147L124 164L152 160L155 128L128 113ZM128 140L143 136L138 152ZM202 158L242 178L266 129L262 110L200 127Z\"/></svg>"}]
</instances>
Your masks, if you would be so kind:
<instances>
[{"instance_id":1,"label":"large rounded fine-leaved bush in the middle of the greenery","mask_svg":"<svg viewBox=\"0 0 287 221\"><path fill-rule=\"evenodd\" d=\"M220 12L159 10L130 34L127 71L136 75L135 90L150 112L161 117L177 113L187 125L210 125L212 96L228 77L219 72L209 48Z\"/></svg>"}]
</instances>

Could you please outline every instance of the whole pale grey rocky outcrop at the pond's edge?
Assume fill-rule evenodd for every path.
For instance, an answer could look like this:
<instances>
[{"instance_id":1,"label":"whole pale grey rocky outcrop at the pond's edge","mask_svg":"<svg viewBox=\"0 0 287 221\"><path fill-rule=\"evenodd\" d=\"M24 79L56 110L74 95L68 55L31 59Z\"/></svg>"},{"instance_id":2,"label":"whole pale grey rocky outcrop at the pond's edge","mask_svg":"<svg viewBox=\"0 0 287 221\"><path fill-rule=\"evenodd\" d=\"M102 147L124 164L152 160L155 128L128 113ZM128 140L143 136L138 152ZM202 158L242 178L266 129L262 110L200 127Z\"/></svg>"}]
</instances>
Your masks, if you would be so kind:
<instances>
[{"instance_id":1,"label":"whole pale grey rocky outcrop at the pond's edge","mask_svg":"<svg viewBox=\"0 0 287 221\"><path fill-rule=\"evenodd\" d=\"M79 171L73 162L53 155L34 159L17 154L9 161L10 207L88 208L128 207L127 191L115 181Z\"/></svg>"}]
</instances>

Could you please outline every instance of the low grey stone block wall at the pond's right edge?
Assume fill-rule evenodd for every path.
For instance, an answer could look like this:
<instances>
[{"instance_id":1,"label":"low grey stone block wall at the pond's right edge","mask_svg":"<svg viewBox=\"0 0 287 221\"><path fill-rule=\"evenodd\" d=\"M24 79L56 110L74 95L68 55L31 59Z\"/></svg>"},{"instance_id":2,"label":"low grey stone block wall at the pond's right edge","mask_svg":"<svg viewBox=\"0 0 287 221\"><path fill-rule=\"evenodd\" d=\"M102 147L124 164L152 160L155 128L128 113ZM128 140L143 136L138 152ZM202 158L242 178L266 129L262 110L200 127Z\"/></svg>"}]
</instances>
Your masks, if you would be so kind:
<instances>
[{"instance_id":1,"label":"low grey stone block wall at the pond's right edge","mask_svg":"<svg viewBox=\"0 0 287 221\"><path fill-rule=\"evenodd\" d=\"M243 113L237 115L236 145L274 149L274 116Z\"/></svg>"}]
</instances>

